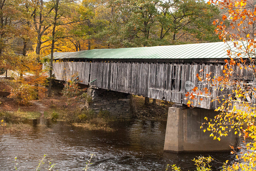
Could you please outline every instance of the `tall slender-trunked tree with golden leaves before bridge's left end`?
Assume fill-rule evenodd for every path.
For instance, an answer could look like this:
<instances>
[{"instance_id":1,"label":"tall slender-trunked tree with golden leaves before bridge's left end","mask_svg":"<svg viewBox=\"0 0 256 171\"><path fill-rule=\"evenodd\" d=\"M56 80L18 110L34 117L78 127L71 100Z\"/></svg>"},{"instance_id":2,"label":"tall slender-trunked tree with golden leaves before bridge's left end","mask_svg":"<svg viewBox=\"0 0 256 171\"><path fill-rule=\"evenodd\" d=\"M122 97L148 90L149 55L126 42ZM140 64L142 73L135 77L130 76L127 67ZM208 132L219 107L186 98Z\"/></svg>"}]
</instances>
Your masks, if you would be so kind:
<instances>
[{"instance_id":1,"label":"tall slender-trunked tree with golden leaves before bridge's left end","mask_svg":"<svg viewBox=\"0 0 256 171\"><path fill-rule=\"evenodd\" d=\"M60 39L82 37L86 35L83 31L78 31L79 27L84 21L90 19L90 11L80 10L77 12L76 1L68 0L52 0L50 5L53 7L51 15L51 57L50 57L50 78L48 95L51 96L52 86L52 66L53 66L53 52L55 51L55 42ZM88 15L89 14L89 15ZM71 29L70 29L71 28Z\"/></svg>"}]
</instances>

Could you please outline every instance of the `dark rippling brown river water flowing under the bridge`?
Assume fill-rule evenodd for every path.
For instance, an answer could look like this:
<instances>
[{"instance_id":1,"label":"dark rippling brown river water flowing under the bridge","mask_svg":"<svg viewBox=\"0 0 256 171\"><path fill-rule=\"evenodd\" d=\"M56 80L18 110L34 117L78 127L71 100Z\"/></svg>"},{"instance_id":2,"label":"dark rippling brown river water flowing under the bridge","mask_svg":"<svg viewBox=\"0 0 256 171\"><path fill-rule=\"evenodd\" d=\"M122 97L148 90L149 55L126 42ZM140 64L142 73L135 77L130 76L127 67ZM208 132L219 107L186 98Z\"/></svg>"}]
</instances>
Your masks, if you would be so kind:
<instances>
[{"instance_id":1,"label":"dark rippling brown river water flowing under the bridge","mask_svg":"<svg viewBox=\"0 0 256 171\"><path fill-rule=\"evenodd\" d=\"M90 171L137 171L165 170L167 164L176 164L182 170L195 170L195 156L211 155L223 163L235 160L230 152L213 153L166 153L164 136L166 122L122 121L113 122L116 131L85 130L68 122L46 119L29 120L31 133L0 135L0 171L35 170L39 160L47 154L42 168L51 159L55 170L82 171L90 154L94 154ZM212 170L220 170L221 164L212 162ZM43 169L42 169L43 170Z\"/></svg>"}]
</instances>

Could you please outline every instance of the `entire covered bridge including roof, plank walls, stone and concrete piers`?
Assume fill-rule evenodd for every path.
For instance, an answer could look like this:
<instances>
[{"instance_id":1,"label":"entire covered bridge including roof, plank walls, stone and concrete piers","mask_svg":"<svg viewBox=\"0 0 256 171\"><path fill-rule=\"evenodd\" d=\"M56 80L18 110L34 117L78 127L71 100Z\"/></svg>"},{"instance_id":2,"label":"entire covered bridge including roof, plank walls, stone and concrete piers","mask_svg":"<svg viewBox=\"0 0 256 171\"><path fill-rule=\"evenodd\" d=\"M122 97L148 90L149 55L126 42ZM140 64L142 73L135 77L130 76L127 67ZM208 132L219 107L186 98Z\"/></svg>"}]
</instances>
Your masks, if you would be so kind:
<instances>
[{"instance_id":1,"label":"entire covered bridge including roof, plank walls, stone and concrete piers","mask_svg":"<svg viewBox=\"0 0 256 171\"><path fill-rule=\"evenodd\" d=\"M230 46L233 43L230 42ZM54 53L53 73L57 80L79 80L82 84L93 86L88 92L94 101L92 108L109 110L112 113L130 112L127 106L131 96L145 97L187 104L185 93L192 92L194 86L208 88L213 97L229 93L220 91L198 81L196 74L203 78L220 76L224 69L227 51L224 42L200 43L175 46L142 48L93 49L79 52ZM246 83L254 84L250 71L234 67L234 71ZM112 90L112 91L107 91ZM122 92L122 93L120 93ZM116 94L118 93L118 94ZM196 100L195 109L169 108L165 150L170 151L214 151L228 150L229 143L237 144L235 136L212 142L208 134L199 130L204 116L213 117L213 109L220 103L206 96L200 104ZM247 101L255 99L248 96ZM120 115L123 116L123 115ZM197 128L198 127L198 128ZM203 145L202 142L204 142ZM224 145L226 144L226 146Z\"/></svg>"}]
</instances>

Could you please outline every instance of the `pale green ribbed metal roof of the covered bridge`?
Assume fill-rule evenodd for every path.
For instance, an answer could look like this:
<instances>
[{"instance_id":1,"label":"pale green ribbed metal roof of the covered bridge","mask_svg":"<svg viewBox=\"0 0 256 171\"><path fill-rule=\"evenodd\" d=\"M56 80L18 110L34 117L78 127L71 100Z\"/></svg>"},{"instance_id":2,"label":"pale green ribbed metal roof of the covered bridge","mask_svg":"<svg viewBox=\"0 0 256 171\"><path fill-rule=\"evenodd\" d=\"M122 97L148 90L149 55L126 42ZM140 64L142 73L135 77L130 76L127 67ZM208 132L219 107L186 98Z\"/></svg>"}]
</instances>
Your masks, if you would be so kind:
<instances>
[{"instance_id":1,"label":"pale green ribbed metal roof of the covered bridge","mask_svg":"<svg viewBox=\"0 0 256 171\"><path fill-rule=\"evenodd\" d=\"M233 42L197 43L140 48L92 49L78 52L54 52L55 59L194 59L227 58Z\"/></svg>"}]
</instances>

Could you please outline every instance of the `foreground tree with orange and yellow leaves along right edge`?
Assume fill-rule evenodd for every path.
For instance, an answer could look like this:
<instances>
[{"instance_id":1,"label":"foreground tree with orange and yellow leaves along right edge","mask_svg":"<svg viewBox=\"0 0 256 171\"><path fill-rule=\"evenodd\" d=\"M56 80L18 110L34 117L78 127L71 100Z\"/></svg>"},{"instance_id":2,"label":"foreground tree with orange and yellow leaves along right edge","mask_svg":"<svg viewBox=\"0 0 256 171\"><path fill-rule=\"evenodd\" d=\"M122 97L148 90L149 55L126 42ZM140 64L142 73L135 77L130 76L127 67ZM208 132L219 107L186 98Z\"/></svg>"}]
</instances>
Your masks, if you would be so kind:
<instances>
[{"instance_id":1,"label":"foreground tree with orange and yellow leaves along right edge","mask_svg":"<svg viewBox=\"0 0 256 171\"><path fill-rule=\"evenodd\" d=\"M188 106L195 106L200 95L205 95L212 102L216 101L219 115L214 118L205 117L201 128L210 132L213 139L220 140L232 132L243 137L244 146L234 148L236 162L224 163L222 170L255 170L256 146L256 68L255 68L255 21L256 6L253 1L210 1L208 4L219 5L227 11L222 20L214 20L217 28L215 33L227 44L227 58L222 73L213 76L212 73L198 73L197 78L205 81L208 87L218 90L220 94L211 94L209 88L204 91L195 87L186 94ZM228 21L228 22L227 22ZM205 128L206 126L206 128ZM240 152L238 152L240 150Z\"/></svg>"}]
</instances>

